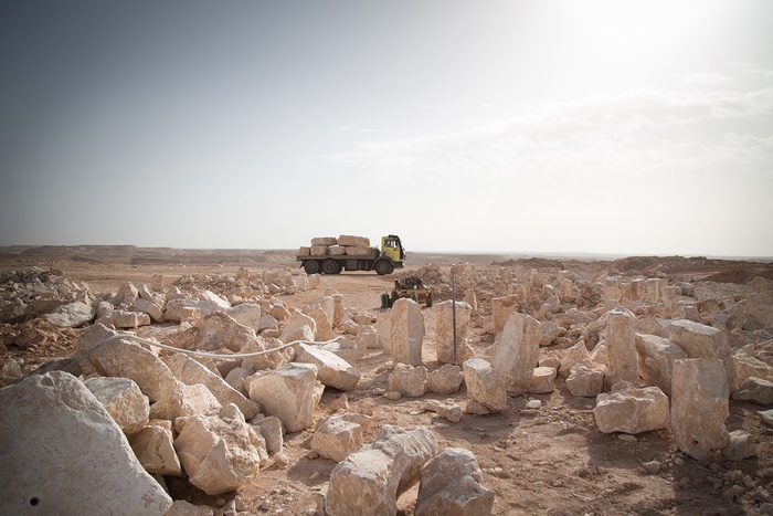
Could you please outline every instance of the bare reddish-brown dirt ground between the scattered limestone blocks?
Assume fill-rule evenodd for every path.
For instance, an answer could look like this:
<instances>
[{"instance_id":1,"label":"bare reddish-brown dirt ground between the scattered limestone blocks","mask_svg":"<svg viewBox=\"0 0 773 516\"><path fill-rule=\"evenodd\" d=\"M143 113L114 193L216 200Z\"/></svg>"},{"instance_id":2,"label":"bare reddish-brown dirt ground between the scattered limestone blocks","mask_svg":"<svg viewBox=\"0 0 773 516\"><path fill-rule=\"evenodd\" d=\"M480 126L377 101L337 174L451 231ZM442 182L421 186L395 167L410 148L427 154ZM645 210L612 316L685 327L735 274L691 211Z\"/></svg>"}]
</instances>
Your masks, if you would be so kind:
<instances>
[{"instance_id":1,"label":"bare reddish-brown dirt ground between the scattered limestone blocks","mask_svg":"<svg viewBox=\"0 0 773 516\"><path fill-rule=\"evenodd\" d=\"M470 256L464 259L469 261ZM496 257L481 256L479 260L491 264ZM770 277L772 271L765 264L682 260L564 261L561 266L610 273L666 271L673 274L671 277L681 280L724 274L717 276L719 281L735 283L749 281L755 274ZM428 261L454 263L460 260L459 256L424 256L412 265L420 266ZM251 272L266 266L296 267L287 256L264 260L260 264L227 262L135 260L131 263L116 259L7 255L0 260L0 271L53 267L71 281L87 282L91 291L115 292L126 281L150 284L155 274L174 278L180 275L235 274L240 266L246 266ZM498 265L517 263L502 259ZM529 264L520 262L520 265ZM531 266L539 265L531 263ZM542 265L555 267L557 263ZM322 286L318 289L279 297L289 306L303 307L316 303L327 288L333 288L343 295L345 307L377 317L380 295L391 288L394 276L382 277L374 273L343 273L322 276ZM440 301L442 298L436 298L436 303ZM424 308L423 314L426 325L423 358L432 371L441 366L433 351L433 308ZM485 334L483 328L473 326L470 330L469 343L476 351L481 352L493 344L493 336ZM77 331L72 330L71 337L61 337L59 341L40 343L25 350L10 346L7 354L27 360L28 367L47 358L66 358L74 351ZM465 414L460 422L453 423L425 411L424 401L453 399L460 403L465 400L464 388L449 397L427 393L423 398L390 401L382 393L388 390L391 359L372 350L357 367L362 378L357 390L346 396L351 410L372 414L374 424L367 440L374 440L383 424L424 425L434 432L441 447L470 450L483 468L484 486L496 492L496 515L761 514L760 505L766 501L751 493L762 487L773 494L773 428L765 425L756 413L764 408L753 403L731 400L727 427L731 431L743 429L751 432L758 443L758 456L731 462L718 455L714 460L700 462L679 452L670 430L638 434L634 442L624 441L618 434L600 432L593 417L595 399L571 396L562 380L557 380L557 390L548 394L510 397L508 409L502 413ZM335 389L326 389L318 419L331 411L331 403L340 396L341 392ZM540 400L541 408L526 409L532 399ZM210 497L179 480L167 478L169 491L173 498L186 498L213 508L237 495L242 508L253 514L314 514L316 496L325 492L336 463L310 453L311 435L313 429L286 435L288 464L262 470L239 493ZM657 461L659 471L645 472L644 464L653 461ZM743 488L733 489L737 485ZM400 514L413 514L416 489L414 487L400 498Z\"/></svg>"}]
</instances>

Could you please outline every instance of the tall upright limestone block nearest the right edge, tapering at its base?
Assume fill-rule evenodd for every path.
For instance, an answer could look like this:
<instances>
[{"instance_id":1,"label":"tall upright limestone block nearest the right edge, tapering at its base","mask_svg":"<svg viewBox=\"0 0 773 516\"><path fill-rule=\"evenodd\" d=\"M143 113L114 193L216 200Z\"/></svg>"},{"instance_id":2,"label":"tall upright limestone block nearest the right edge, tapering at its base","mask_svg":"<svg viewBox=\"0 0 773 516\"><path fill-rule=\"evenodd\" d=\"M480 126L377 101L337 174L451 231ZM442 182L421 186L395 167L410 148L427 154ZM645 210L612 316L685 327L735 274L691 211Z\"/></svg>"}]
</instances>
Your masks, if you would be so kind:
<instances>
[{"instance_id":1,"label":"tall upright limestone block nearest the right edge, tapering at its base","mask_svg":"<svg viewBox=\"0 0 773 516\"><path fill-rule=\"evenodd\" d=\"M727 446L728 397L722 360L688 358L674 361L671 430L682 452L702 461Z\"/></svg>"}]
</instances>

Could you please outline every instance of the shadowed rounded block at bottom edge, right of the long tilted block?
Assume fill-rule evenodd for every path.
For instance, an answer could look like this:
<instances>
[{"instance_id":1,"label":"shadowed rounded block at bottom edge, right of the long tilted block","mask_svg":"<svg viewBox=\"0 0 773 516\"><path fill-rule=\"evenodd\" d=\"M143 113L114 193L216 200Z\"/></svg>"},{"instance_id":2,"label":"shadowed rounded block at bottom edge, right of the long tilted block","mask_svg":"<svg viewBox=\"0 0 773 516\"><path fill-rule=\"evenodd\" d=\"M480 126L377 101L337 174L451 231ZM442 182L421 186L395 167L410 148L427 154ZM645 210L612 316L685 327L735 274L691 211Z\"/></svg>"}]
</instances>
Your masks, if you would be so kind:
<instances>
[{"instance_id":1,"label":"shadowed rounded block at bottom edge, right of the long tilted block","mask_svg":"<svg viewBox=\"0 0 773 516\"><path fill-rule=\"evenodd\" d=\"M481 485L483 472L473 452L446 447L422 470L416 516L484 516L494 508L494 491Z\"/></svg>"}]
</instances>

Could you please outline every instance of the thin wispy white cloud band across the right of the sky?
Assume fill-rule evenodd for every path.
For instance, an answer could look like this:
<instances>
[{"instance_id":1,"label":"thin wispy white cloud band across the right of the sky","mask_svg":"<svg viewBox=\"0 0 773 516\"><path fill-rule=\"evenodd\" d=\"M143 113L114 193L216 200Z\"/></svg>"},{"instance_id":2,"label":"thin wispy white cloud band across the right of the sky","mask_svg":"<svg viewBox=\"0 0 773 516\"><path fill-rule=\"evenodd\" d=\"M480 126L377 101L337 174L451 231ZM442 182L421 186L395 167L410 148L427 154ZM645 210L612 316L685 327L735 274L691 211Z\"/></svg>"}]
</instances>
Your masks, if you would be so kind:
<instances>
[{"instance_id":1,"label":"thin wispy white cloud band across the right of the sky","mask_svg":"<svg viewBox=\"0 0 773 516\"><path fill-rule=\"evenodd\" d=\"M692 78L732 83L720 77ZM328 159L370 170L373 177L442 180L472 188L488 180L695 173L720 164L745 173L770 173L771 135L773 87L636 89L536 106L470 130L364 140Z\"/></svg>"}]
</instances>

